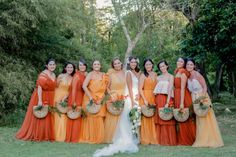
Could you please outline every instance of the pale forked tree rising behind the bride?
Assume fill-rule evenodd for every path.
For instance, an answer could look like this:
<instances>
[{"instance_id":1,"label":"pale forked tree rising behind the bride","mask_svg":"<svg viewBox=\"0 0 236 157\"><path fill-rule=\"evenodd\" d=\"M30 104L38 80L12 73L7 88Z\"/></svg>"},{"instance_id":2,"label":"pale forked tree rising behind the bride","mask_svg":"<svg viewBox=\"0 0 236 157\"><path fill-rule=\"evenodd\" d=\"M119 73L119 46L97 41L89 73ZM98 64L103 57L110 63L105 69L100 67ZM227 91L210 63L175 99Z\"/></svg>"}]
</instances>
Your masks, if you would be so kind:
<instances>
[{"instance_id":1,"label":"pale forked tree rising behind the bride","mask_svg":"<svg viewBox=\"0 0 236 157\"><path fill-rule=\"evenodd\" d=\"M125 65L126 59L132 55L132 51L135 48L137 42L140 40L143 32L153 22L152 14L154 13L156 7L152 7L150 3L151 1L149 0L130 0L122 2L121 0L112 0L115 14L122 26L124 35L127 40L127 49L125 52L124 60ZM139 24L138 30L135 33L134 37L130 35L130 32L124 20L124 16L127 16L131 13L136 14L137 18L135 20L138 20L137 23Z\"/></svg>"}]
</instances>

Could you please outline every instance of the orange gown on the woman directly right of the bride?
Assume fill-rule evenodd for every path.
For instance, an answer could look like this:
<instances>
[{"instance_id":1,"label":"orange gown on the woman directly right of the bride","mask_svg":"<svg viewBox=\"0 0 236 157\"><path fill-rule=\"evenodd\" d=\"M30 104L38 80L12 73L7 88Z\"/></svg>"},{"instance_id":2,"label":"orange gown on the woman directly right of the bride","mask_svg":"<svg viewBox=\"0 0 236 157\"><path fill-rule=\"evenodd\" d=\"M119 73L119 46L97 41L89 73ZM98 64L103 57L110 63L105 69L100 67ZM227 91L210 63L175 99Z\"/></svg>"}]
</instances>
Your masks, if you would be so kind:
<instances>
[{"instance_id":1,"label":"orange gown on the woman directly right of the bride","mask_svg":"<svg viewBox=\"0 0 236 157\"><path fill-rule=\"evenodd\" d=\"M157 81L152 80L151 77L146 77L144 80L143 94L149 104L155 105L155 95L153 90ZM140 106L145 105L142 98L139 100ZM140 143L141 144L158 144L157 132L155 126L155 116L153 117L141 117L141 131L140 131Z\"/></svg>"}]
</instances>

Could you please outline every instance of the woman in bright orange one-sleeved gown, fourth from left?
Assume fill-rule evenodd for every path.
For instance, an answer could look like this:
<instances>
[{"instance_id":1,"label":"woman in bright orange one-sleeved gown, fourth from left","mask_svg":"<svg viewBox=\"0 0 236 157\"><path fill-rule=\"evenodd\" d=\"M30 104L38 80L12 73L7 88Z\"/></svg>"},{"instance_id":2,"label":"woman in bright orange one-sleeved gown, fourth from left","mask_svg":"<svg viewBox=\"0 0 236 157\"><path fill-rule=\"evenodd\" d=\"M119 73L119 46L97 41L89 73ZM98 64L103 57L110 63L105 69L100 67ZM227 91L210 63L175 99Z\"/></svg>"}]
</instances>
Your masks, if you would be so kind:
<instances>
[{"instance_id":1,"label":"woman in bright orange one-sleeved gown, fourth from left","mask_svg":"<svg viewBox=\"0 0 236 157\"><path fill-rule=\"evenodd\" d=\"M94 60L92 63L93 71L90 72L84 83L83 89L85 91L83 108L89 101L93 100L95 103L100 104L105 91L107 89L108 77L100 71L101 63L99 60ZM106 114L106 106L102 105L101 110L97 114L87 113L87 117L83 119L82 123L82 139L81 142L86 143L102 143L104 142L104 117Z\"/></svg>"}]
</instances>

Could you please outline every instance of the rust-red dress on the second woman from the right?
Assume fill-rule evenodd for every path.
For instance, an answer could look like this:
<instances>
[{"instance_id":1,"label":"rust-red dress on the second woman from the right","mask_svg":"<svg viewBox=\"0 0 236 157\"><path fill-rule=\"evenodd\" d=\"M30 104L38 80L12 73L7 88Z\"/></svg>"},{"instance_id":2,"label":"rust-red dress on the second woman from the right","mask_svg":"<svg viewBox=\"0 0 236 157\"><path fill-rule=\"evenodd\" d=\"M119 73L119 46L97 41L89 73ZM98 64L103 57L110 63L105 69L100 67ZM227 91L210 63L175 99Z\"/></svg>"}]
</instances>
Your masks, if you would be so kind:
<instances>
[{"instance_id":1,"label":"rust-red dress on the second woman from the right","mask_svg":"<svg viewBox=\"0 0 236 157\"><path fill-rule=\"evenodd\" d=\"M187 77L190 76L189 72L185 69L177 69L175 73L185 73ZM181 78L175 77L174 79L174 103L175 108L180 107L180 96L181 96ZM185 87L185 96L184 96L184 107L190 107L192 104L191 94L187 88ZM177 132L177 139L179 145L192 145L196 139L196 123L195 118L189 118L185 122L178 122L178 132Z\"/></svg>"}]
</instances>

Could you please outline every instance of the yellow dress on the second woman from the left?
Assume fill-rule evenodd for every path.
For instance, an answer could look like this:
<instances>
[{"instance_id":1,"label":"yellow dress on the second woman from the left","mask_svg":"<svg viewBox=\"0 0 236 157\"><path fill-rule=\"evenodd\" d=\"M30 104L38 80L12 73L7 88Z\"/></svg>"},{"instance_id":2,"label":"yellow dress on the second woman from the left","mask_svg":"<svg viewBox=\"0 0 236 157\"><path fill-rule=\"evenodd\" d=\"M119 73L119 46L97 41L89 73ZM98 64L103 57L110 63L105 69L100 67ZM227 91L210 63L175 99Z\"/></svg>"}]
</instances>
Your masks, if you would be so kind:
<instances>
[{"instance_id":1,"label":"yellow dress on the second woman from the left","mask_svg":"<svg viewBox=\"0 0 236 157\"><path fill-rule=\"evenodd\" d=\"M58 102L61 102L61 100L68 96L69 89L71 85L71 80L69 81L65 77L61 79L61 81L58 84L58 87L55 90L55 105ZM67 116L65 114L61 114L59 116L58 113L54 114L54 130L55 130L55 140L56 141L65 141L66 138L66 122L67 122Z\"/></svg>"}]
</instances>

